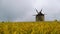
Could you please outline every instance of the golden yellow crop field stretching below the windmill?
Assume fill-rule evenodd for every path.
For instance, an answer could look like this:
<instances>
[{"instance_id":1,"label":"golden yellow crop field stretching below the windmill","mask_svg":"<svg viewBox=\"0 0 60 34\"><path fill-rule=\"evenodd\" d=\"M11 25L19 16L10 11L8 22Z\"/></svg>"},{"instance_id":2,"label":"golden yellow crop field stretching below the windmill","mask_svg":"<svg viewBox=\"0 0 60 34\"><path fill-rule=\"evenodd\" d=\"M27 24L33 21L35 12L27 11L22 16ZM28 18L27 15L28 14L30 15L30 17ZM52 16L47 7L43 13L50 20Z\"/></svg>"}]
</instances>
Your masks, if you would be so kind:
<instances>
[{"instance_id":1,"label":"golden yellow crop field stretching below the windmill","mask_svg":"<svg viewBox=\"0 0 60 34\"><path fill-rule=\"evenodd\" d=\"M60 34L60 22L1 22L0 34Z\"/></svg>"}]
</instances>

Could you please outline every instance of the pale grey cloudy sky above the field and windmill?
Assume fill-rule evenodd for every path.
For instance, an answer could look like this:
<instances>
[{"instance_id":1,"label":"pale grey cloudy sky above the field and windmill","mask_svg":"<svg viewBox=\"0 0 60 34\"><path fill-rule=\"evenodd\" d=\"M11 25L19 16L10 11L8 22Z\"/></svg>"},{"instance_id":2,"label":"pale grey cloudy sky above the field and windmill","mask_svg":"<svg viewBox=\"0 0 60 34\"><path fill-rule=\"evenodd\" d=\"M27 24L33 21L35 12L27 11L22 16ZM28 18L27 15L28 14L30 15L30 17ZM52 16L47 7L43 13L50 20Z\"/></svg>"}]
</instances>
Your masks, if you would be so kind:
<instances>
[{"instance_id":1,"label":"pale grey cloudy sky above the field and windmill","mask_svg":"<svg viewBox=\"0 0 60 34\"><path fill-rule=\"evenodd\" d=\"M0 21L35 21L35 8L45 21L60 20L60 0L0 0Z\"/></svg>"}]
</instances>

